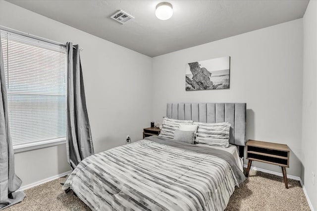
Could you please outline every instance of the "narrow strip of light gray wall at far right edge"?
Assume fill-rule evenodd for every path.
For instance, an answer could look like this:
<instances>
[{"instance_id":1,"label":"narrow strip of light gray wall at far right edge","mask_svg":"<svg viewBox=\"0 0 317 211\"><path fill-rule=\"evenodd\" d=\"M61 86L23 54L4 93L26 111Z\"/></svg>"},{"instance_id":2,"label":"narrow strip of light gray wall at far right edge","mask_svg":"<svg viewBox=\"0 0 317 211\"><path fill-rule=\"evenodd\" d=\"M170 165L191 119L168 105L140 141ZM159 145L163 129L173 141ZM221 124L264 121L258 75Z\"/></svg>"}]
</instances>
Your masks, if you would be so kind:
<instances>
[{"instance_id":1,"label":"narrow strip of light gray wall at far right edge","mask_svg":"<svg viewBox=\"0 0 317 211\"><path fill-rule=\"evenodd\" d=\"M303 18L302 179L317 210L317 1L311 0ZM315 186L313 174L315 173Z\"/></svg>"}]
</instances>

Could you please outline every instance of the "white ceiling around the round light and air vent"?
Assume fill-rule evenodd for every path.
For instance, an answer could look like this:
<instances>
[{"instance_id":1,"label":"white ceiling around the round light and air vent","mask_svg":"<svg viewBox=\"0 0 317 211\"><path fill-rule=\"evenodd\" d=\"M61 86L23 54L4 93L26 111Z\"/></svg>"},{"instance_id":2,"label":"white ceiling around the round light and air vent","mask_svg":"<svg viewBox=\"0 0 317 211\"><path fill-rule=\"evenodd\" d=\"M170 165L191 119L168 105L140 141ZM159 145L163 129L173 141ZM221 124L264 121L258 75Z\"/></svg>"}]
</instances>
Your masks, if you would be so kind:
<instances>
[{"instance_id":1,"label":"white ceiling around the round light and air vent","mask_svg":"<svg viewBox=\"0 0 317 211\"><path fill-rule=\"evenodd\" d=\"M209 43L303 17L308 0L165 0L169 20L155 7L164 0L7 0L148 56ZM135 19L122 25L117 10Z\"/></svg>"}]
</instances>

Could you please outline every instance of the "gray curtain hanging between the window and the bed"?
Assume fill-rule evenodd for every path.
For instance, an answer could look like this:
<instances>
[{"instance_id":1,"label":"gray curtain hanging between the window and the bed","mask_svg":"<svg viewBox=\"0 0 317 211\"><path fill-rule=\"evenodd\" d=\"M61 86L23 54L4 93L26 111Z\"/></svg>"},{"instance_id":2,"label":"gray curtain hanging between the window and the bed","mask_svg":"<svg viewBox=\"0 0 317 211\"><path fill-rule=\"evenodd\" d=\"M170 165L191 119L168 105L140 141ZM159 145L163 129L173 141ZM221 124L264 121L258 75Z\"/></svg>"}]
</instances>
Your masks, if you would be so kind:
<instances>
[{"instance_id":1,"label":"gray curtain hanging between the window and the bed","mask_svg":"<svg viewBox=\"0 0 317 211\"><path fill-rule=\"evenodd\" d=\"M67 141L68 163L74 169L78 163L94 154L88 119L79 46L67 48Z\"/></svg>"}]
</instances>

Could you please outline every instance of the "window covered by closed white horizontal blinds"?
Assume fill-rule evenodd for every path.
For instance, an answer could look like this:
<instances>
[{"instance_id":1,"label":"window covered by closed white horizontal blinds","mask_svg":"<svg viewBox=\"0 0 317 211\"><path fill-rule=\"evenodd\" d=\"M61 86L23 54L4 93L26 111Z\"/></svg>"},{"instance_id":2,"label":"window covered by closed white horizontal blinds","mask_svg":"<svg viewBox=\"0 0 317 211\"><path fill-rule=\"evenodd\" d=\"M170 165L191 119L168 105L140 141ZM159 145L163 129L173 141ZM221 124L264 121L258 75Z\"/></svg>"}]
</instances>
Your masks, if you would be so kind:
<instances>
[{"instance_id":1,"label":"window covered by closed white horizontal blinds","mask_svg":"<svg viewBox=\"0 0 317 211\"><path fill-rule=\"evenodd\" d=\"M64 142L65 47L5 30L0 33L13 149Z\"/></svg>"}]
</instances>

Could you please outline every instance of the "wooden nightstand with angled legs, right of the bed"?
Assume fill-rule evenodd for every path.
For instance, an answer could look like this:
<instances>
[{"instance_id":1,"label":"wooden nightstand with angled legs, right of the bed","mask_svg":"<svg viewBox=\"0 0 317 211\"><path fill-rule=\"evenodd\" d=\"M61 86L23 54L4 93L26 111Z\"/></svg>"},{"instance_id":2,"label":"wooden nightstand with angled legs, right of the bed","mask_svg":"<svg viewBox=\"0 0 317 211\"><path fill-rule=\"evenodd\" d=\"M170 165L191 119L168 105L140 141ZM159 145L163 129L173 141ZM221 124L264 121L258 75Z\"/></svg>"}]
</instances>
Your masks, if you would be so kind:
<instances>
[{"instance_id":1,"label":"wooden nightstand with angled legs, right of the bed","mask_svg":"<svg viewBox=\"0 0 317 211\"><path fill-rule=\"evenodd\" d=\"M289 167L289 148L286 144L248 140L247 159L249 162L246 176L249 175L253 160L279 165L282 167L285 188L288 188L286 167Z\"/></svg>"}]
</instances>

